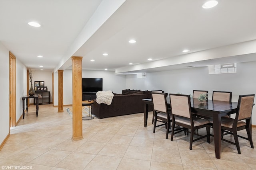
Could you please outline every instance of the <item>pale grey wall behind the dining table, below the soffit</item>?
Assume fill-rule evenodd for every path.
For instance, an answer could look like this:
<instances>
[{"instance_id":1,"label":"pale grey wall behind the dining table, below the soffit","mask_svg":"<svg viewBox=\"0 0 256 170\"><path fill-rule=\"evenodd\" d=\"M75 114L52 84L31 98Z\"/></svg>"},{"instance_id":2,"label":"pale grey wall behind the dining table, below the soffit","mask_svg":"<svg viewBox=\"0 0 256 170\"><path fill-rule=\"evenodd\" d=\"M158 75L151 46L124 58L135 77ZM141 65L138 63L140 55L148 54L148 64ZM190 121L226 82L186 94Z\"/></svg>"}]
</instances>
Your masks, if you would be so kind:
<instances>
[{"instance_id":1,"label":"pale grey wall behind the dining table, below the soffit","mask_svg":"<svg viewBox=\"0 0 256 170\"><path fill-rule=\"evenodd\" d=\"M193 90L232 92L232 102L238 102L238 96L256 94L256 61L237 63L237 72L228 74L208 74L208 67L185 68L147 73L146 78L136 75L126 76L127 89L164 90L166 93L192 94ZM254 100L256 103L256 100ZM252 124L256 125L256 106L252 112Z\"/></svg>"}]
</instances>

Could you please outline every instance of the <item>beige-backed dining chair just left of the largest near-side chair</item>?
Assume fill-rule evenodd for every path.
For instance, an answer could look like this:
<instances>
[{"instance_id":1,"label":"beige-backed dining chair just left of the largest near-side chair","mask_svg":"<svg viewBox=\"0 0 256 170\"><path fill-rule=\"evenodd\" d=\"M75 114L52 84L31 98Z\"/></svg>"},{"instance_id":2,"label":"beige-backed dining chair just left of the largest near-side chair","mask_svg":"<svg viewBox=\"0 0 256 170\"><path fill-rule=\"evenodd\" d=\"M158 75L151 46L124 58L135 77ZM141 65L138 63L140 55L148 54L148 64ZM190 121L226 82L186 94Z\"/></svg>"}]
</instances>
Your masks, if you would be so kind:
<instances>
[{"instance_id":1,"label":"beige-backed dining chair just left of the largest near-side chair","mask_svg":"<svg viewBox=\"0 0 256 170\"><path fill-rule=\"evenodd\" d=\"M152 92L152 101L153 101L153 115L154 119L154 130L156 131L156 127L165 125L166 128L166 139L168 139L168 134L171 132L170 123L172 122L172 116L170 115L170 111L168 111L166 97L167 93L156 93ZM162 122L160 125L156 125L156 122Z\"/></svg>"}]
</instances>

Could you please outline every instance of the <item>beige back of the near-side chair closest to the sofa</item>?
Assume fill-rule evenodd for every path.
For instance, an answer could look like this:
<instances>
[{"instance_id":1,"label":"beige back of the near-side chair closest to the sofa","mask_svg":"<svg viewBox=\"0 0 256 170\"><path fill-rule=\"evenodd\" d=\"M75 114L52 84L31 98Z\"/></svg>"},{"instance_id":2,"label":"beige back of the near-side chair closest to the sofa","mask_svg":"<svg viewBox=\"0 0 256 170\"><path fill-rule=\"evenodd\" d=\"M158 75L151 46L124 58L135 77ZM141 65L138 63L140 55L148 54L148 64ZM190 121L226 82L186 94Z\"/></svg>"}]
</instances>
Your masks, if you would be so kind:
<instances>
[{"instance_id":1,"label":"beige back of the near-side chair closest to the sofa","mask_svg":"<svg viewBox=\"0 0 256 170\"><path fill-rule=\"evenodd\" d=\"M154 111L167 113L166 94L152 92Z\"/></svg>"}]
</instances>

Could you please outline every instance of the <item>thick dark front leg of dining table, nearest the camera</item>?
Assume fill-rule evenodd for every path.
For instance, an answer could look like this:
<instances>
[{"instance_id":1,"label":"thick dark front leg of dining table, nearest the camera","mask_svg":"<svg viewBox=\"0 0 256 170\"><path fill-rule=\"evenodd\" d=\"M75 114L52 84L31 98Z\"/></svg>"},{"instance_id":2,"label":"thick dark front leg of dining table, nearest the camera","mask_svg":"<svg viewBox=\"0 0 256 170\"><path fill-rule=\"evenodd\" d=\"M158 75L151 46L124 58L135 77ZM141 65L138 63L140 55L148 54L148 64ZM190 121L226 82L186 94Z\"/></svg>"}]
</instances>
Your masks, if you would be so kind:
<instances>
[{"instance_id":1,"label":"thick dark front leg of dining table, nearest the camera","mask_svg":"<svg viewBox=\"0 0 256 170\"><path fill-rule=\"evenodd\" d=\"M214 146L215 146L215 157L220 159L220 148L221 148L221 116L219 114L213 115L213 133L214 133Z\"/></svg>"}]
</instances>

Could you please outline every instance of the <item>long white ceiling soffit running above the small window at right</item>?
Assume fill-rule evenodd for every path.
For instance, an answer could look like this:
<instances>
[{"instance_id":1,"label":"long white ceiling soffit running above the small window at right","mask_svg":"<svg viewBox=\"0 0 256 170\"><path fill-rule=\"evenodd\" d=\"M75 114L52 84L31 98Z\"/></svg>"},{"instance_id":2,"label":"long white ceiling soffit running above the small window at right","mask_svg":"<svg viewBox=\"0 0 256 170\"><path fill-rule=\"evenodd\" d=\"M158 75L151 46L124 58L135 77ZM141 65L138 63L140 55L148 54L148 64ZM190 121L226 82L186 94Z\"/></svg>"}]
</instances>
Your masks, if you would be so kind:
<instances>
[{"instance_id":1,"label":"long white ceiling soffit running above the small window at right","mask_svg":"<svg viewBox=\"0 0 256 170\"><path fill-rule=\"evenodd\" d=\"M116 69L116 74L128 72L152 72L180 69L186 66L207 66L223 63L256 61L256 40L227 45L219 48L179 55L158 61L136 64ZM250 54L250 55L248 55ZM217 62L217 63L216 63Z\"/></svg>"}]
</instances>

